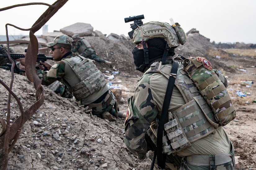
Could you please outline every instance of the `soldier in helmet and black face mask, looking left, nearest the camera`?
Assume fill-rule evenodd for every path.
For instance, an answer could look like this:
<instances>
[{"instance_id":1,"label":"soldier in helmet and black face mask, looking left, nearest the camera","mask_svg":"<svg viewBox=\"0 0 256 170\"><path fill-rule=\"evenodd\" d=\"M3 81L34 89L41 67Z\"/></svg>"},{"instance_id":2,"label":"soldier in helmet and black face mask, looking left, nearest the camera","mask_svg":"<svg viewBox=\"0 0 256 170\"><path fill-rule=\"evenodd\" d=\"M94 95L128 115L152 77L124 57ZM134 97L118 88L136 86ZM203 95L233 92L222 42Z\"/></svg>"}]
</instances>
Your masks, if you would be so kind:
<instances>
[{"instance_id":1,"label":"soldier in helmet and black face mask, looking left, nearest the camera","mask_svg":"<svg viewBox=\"0 0 256 170\"><path fill-rule=\"evenodd\" d=\"M234 169L233 146L222 128L235 117L226 79L205 58L186 59L183 68L184 58L172 57L186 42L177 23L145 23L133 42L135 69L144 74L128 99L129 151L138 159L157 155L161 169Z\"/></svg>"}]
</instances>

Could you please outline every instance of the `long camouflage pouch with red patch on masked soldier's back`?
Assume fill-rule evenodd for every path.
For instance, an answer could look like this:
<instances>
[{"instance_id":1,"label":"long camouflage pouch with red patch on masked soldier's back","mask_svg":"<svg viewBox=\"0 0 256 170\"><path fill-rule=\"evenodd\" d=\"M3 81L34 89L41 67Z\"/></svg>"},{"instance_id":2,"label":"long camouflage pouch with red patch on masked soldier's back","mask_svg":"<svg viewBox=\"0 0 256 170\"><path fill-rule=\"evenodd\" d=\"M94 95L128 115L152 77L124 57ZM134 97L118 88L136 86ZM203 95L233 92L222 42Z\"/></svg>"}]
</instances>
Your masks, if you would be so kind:
<instances>
[{"instance_id":1,"label":"long camouflage pouch with red patch on masked soldier's back","mask_svg":"<svg viewBox=\"0 0 256 170\"><path fill-rule=\"evenodd\" d=\"M211 69L209 61L202 57L185 59L184 70L198 86L220 125L225 126L236 117L236 110L228 91L219 79L219 73Z\"/></svg>"}]
</instances>

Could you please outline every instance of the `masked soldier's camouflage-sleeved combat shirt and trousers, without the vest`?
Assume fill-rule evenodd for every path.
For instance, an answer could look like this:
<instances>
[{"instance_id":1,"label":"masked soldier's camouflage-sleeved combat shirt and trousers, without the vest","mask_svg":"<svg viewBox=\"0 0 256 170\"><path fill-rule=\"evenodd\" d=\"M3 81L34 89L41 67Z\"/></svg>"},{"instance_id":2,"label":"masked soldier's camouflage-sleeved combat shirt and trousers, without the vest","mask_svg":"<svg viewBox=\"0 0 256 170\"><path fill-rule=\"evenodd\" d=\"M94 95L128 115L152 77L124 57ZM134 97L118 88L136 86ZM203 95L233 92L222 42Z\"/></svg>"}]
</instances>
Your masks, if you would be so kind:
<instances>
[{"instance_id":1,"label":"masked soldier's camouflage-sleeved combat shirt and trousers, without the vest","mask_svg":"<svg viewBox=\"0 0 256 170\"><path fill-rule=\"evenodd\" d=\"M166 66L171 68L172 64ZM180 62L179 67L182 67ZM176 78L175 81L176 86L174 86L168 109L171 113L186 104L181 92L177 88L177 79L178 78ZM129 151L136 155L138 159L144 159L146 157L148 146L144 135L149 129L150 124L155 121L156 118L160 118L167 84L168 79L163 74L144 74L137 83L134 95L128 99L128 116L124 123L124 142ZM180 167L180 162L182 162L182 169L209 169L209 166L204 166L203 163L199 165L193 164L191 161L192 156L218 155L230 152L231 142L220 126L206 137L191 143L190 147L182 151L177 151L175 156L172 154L167 155L166 169L177 169ZM152 158L152 151L149 152L149 156ZM175 168L168 166L169 164L174 164ZM233 163L232 161L228 163L225 162L215 167L217 169L221 167L233 169Z\"/></svg>"}]
</instances>

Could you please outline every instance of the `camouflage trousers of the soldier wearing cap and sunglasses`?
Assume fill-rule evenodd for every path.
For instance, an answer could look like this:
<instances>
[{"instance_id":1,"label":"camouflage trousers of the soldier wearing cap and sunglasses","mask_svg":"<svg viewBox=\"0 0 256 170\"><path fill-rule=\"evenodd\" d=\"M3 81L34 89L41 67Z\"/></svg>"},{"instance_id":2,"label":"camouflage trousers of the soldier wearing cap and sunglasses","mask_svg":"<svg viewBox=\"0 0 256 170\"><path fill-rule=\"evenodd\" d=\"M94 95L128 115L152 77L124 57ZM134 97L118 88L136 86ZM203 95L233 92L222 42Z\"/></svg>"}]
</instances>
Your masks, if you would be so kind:
<instances>
[{"instance_id":1,"label":"camouflage trousers of the soldier wearing cap and sunglasses","mask_svg":"<svg viewBox=\"0 0 256 170\"><path fill-rule=\"evenodd\" d=\"M91 103L87 106L89 107L88 109L92 109L93 115L101 116L102 113L110 111L115 105L115 102L115 96L109 90L107 95L105 96L105 99L101 103Z\"/></svg>"}]
</instances>

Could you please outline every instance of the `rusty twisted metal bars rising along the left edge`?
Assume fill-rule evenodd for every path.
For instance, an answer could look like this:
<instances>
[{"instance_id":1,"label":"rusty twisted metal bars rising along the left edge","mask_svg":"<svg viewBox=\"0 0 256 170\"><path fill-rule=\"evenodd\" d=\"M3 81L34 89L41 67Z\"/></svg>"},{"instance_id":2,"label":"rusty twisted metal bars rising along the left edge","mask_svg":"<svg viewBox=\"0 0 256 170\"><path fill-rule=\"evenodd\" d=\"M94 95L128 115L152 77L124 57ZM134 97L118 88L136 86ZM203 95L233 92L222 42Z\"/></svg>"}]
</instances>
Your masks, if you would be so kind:
<instances>
[{"instance_id":1,"label":"rusty twisted metal bars rising along the left edge","mask_svg":"<svg viewBox=\"0 0 256 170\"><path fill-rule=\"evenodd\" d=\"M8 153L11 151L13 146L15 145L16 141L19 138L20 131L22 125L35 113L35 111L43 104L44 97L43 97L43 87L41 86L41 81L38 78L36 72L35 72L35 64L36 64L36 57L38 54L38 41L36 36L34 35L35 32L37 32L68 0L57 0L52 5L49 5L47 3L41 3L41 2L32 2L32 3L25 3L25 4L17 4L13 6L8 6L5 8L1 8L0 11L8 10L11 8L15 8L18 6L28 6L28 5L46 5L49 6L49 8L38 18L38 20L33 24L31 28L24 29L19 28L13 24L6 24L6 37L7 37L7 53L8 58L12 63L11 66L11 83L10 87L8 87L2 80L0 80L0 83L9 91L8 95L8 101L7 101L7 124L5 125L5 122L3 119L0 119L0 123L2 125L2 132L0 133L0 152L3 149L3 153L0 153L0 161L4 164L0 165L0 168L6 169L8 164ZM10 25L14 28L23 30L23 31L29 31L29 45L27 49L26 54L26 60L25 60L25 70L26 70L26 76L29 79L30 82L34 83L34 87L36 89L36 102L30 106L25 112L23 110L23 106L18 99L18 97L13 93L12 91L12 85L14 81L14 61L10 57L10 46L9 46L9 37L8 37L8 28L7 26ZM21 115L17 118L17 120L10 126L10 102L11 102L11 95L16 99L16 101L19 104ZM13 140L13 141L12 141ZM12 141L12 142L11 142ZM11 142L11 145L9 146L9 143ZM9 148L8 148L9 146Z\"/></svg>"}]
</instances>

